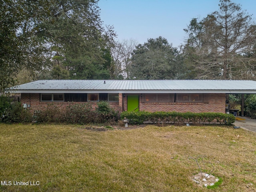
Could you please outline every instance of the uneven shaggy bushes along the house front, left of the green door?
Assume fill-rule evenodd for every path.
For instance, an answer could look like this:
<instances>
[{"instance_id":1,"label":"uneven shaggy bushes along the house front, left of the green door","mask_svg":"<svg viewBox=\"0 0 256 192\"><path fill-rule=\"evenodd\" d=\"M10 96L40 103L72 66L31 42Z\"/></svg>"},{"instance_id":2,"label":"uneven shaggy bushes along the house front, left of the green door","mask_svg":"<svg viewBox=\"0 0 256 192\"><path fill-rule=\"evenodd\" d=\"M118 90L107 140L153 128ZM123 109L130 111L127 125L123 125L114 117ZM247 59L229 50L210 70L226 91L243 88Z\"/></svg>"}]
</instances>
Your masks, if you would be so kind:
<instances>
[{"instance_id":1,"label":"uneven shaggy bushes along the house front, left of the green door","mask_svg":"<svg viewBox=\"0 0 256 192\"><path fill-rule=\"evenodd\" d=\"M0 100L0 120L7 123L32 122L40 123L65 122L70 124L87 123L114 123L117 113L110 107L108 102L98 102L96 110L90 103L70 104L66 111L54 103L47 104L32 116L29 108L24 109L20 102L11 103L10 100Z\"/></svg>"}]
</instances>

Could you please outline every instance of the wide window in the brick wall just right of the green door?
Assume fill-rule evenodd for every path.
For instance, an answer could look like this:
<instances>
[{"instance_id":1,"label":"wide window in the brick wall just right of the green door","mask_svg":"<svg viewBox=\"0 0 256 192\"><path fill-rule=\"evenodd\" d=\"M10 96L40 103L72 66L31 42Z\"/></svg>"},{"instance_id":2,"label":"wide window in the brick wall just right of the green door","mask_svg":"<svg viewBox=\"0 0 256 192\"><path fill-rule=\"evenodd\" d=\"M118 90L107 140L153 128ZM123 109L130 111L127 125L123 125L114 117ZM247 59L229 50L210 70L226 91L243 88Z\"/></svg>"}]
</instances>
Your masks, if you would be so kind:
<instances>
[{"instance_id":1,"label":"wide window in the brick wall just right of the green door","mask_svg":"<svg viewBox=\"0 0 256 192\"><path fill-rule=\"evenodd\" d=\"M144 102L174 102L174 94L144 94Z\"/></svg>"}]
</instances>

